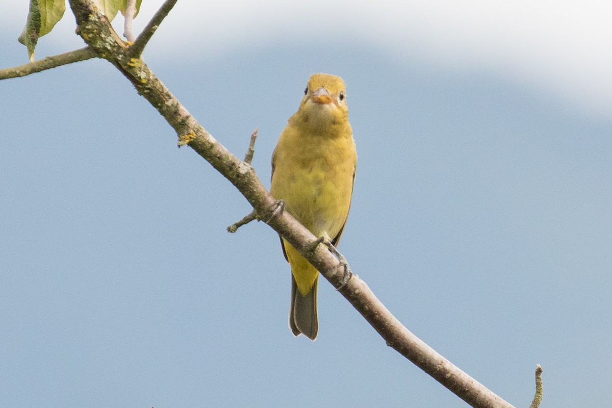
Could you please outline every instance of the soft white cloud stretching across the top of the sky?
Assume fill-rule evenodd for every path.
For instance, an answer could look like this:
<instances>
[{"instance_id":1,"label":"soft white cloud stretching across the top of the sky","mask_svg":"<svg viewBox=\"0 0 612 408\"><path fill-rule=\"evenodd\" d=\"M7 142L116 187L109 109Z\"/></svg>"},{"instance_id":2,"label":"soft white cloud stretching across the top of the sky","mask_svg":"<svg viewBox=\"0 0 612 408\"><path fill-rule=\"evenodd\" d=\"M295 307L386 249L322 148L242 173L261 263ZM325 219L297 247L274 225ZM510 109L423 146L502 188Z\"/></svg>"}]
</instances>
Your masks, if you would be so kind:
<instances>
[{"instance_id":1,"label":"soft white cloud stretching across the top of the sky","mask_svg":"<svg viewBox=\"0 0 612 408\"><path fill-rule=\"evenodd\" d=\"M143 1L137 29L160 4ZM244 42L359 39L400 59L509 73L612 117L611 17L607 0L179 1L155 42L170 56L177 48L205 53Z\"/></svg>"}]
</instances>

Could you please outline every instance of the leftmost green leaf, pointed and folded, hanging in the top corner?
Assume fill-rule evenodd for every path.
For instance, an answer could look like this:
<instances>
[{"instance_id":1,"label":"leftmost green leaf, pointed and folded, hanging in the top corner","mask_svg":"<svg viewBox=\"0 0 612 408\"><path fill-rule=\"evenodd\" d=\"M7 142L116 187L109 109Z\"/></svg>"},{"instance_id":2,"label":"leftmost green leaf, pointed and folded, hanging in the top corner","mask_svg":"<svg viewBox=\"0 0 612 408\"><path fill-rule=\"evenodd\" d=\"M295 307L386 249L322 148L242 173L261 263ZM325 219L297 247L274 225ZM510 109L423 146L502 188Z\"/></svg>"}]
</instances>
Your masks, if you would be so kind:
<instances>
[{"instance_id":1,"label":"leftmost green leaf, pointed and folded, hanging in the top corner","mask_svg":"<svg viewBox=\"0 0 612 408\"><path fill-rule=\"evenodd\" d=\"M28 48L30 61L34 61L34 49L39 37L53 29L61 20L65 10L65 0L30 0L26 26L18 38L18 41Z\"/></svg>"}]
</instances>

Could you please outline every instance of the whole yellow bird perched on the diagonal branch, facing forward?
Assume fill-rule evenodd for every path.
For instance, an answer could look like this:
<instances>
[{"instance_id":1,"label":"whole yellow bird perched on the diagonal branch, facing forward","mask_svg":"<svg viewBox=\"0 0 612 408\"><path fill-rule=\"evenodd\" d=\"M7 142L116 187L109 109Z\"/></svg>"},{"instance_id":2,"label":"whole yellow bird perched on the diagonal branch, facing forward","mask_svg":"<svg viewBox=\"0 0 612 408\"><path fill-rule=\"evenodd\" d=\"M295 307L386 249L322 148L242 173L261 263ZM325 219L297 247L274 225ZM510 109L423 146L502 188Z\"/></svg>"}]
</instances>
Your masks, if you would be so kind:
<instances>
[{"instance_id":1,"label":"whole yellow bird perched on the diagonal branch, facing forward","mask_svg":"<svg viewBox=\"0 0 612 408\"><path fill-rule=\"evenodd\" d=\"M357 152L342 78L315 73L272 155L271 193L316 237L338 245L351 207ZM291 265L289 327L311 340L319 330L315 269L281 238Z\"/></svg>"}]
</instances>

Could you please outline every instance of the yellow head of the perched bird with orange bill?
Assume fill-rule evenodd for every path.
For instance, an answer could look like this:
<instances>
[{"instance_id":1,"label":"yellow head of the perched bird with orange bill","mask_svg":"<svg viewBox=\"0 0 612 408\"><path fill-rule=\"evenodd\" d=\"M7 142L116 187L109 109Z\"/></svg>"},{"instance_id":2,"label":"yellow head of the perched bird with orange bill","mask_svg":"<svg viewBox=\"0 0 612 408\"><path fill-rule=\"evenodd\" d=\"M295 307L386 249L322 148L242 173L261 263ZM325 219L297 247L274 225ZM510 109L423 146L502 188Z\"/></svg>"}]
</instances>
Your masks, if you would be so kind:
<instances>
[{"instance_id":1,"label":"yellow head of the perched bird with orange bill","mask_svg":"<svg viewBox=\"0 0 612 408\"><path fill-rule=\"evenodd\" d=\"M312 75L296 115L313 127L348 123L346 85L342 78L327 73Z\"/></svg>"}]
</instances>

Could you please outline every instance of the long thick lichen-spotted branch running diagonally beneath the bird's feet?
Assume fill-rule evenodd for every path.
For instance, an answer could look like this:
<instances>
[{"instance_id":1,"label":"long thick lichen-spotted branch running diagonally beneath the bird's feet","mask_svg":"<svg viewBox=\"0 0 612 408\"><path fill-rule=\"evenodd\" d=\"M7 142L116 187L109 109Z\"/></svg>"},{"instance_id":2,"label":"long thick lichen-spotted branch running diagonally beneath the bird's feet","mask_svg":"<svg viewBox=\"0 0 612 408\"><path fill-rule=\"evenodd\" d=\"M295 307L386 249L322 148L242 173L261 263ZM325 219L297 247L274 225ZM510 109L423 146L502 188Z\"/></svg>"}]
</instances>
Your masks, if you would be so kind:
<instances>
[{"instance_id":1,"label":"long thick lichen-spotted branch running diagonally beneath the bird's feet","mask_svg":"<svg viewBox=\"0 0 612 408\"><path fill-rule=\"evenodd\" d=\"M166 2L164 7L169 3ZM344 268L341 267L338 259L323 245L318 245L313 251L306 249L308 243L314 242L317 237L313 236L288 212L275 213L275 209L278 208L277 201L258 179L252 166L231 154L201 127L142 59L132 56L132 51L125 48L108 20L100 15L89 0L70 0L70 6L75 13L78 34L95 48L100 56L105 57L121 70L136 87L138 93L146 98L174 128L179 135L179 141L192 147L241 191L255 209L259 219L267 220L266 223L291 245L298 248L300 253L334 287L340 288L340 293L365 317L390 347L422 368L471 406L512 408L511 404L499 398L493 391L488 390L458 369L409 332L358 276L354 275L348 283L341 286Z\"/></svg>"}]
</instances>

